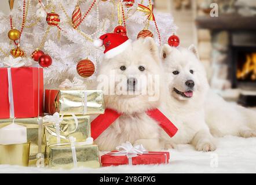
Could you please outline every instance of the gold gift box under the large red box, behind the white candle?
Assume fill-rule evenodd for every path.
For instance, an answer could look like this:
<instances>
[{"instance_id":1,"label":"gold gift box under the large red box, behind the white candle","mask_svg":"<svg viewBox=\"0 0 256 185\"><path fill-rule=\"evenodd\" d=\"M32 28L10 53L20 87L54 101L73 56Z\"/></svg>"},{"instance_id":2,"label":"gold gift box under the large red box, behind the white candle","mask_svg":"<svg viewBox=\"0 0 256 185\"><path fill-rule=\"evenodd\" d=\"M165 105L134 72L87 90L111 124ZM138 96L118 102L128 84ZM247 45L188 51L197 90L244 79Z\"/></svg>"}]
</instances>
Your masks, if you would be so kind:
<instances>
[{"instance_id":1,"label":"gold gift box under the large red box, behind the white candle","mask_svg":"<svg viewBox=\"0 0 256 185\"><path fill-rule=\"evenodd\" d=\"M12 123L13 119L0 119L0 128ZM30 142L29 165L35 166L38 160L36 155L45 153L45 147L42 145L42 117L15 119L14 123L27 127L27 140Z\"/></svg>"}]
</instances>

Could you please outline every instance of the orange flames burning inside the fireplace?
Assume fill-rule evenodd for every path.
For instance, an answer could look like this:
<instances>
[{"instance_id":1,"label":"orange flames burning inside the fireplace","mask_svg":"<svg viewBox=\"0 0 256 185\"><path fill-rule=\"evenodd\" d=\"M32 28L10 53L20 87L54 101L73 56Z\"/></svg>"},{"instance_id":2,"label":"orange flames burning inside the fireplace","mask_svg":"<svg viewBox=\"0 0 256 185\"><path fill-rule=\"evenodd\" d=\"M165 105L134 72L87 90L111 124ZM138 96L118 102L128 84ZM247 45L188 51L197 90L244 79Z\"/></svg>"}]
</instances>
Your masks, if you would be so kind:
<instances>
[{"instance_id":1,"label":"orange flames burning inside the fireplace","mask_svg":"<svg viewBox=\"0 0 256 185\"><path fill-rule=\"evenodd\" d=\"M236 77L239 80L247 79L256 80L256 53L246 54L246 62L242 69L237 69Z\"/></svg>"}]
</instances>

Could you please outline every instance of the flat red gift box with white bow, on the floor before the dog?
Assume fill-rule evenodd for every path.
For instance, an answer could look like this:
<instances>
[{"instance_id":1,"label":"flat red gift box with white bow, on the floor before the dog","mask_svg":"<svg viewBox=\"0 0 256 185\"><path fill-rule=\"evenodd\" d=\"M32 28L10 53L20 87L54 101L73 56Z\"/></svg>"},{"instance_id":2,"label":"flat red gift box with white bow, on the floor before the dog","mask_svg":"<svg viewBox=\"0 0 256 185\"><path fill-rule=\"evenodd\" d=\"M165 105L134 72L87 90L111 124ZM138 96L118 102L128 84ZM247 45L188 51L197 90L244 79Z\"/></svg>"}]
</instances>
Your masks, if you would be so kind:
<instances>
[{"instance_id":1,"label":"flat red gift box with white bow, on the floor before the dog","mask_svg":"<svg viewBox=\"0 0 256 185\"><path fill-rule=\"evenodd\" d=\"M133 147L129 142L116 149L101 156L102 166L167 164L170 158L168 151L147 151L142 145Z\"/></svg>"}]
</instances>

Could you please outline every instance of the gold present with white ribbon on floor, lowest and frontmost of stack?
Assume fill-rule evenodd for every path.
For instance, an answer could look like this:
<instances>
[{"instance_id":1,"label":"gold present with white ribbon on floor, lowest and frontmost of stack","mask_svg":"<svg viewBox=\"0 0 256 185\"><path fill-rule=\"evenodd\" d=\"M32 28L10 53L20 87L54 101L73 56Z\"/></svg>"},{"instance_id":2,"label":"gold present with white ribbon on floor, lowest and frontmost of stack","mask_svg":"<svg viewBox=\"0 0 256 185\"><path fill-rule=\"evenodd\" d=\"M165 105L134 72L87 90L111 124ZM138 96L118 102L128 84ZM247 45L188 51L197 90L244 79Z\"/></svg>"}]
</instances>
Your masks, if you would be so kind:
<instances>
[{"instance_id":1,"label":"gold present with white ribbon on floor, lowest and frontmost of stack","mask_svg":"<svg viewBox=\"0 0 256 185\"><path fill-rule=\"evenodd\" d=\"M99 168L98 146L93 145L92 138L87 138L85 142L76 142L75 138L71 137L69 143L49 146L47 165L50 168L64 169L80 166Z\"/></svg>"}]
</instances>

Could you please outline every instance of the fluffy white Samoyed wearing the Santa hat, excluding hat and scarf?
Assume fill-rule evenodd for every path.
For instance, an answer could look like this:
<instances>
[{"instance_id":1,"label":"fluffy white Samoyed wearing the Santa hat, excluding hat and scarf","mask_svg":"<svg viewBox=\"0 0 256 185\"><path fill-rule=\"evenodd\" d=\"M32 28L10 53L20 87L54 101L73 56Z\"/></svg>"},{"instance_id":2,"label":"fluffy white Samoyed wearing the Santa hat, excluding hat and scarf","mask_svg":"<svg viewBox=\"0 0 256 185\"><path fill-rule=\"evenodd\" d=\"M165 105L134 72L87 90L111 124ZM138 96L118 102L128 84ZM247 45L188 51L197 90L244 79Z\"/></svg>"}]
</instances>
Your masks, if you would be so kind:
<instances>
[{"instance_id":1,"label":"fluffy white Samoyed wearing the Santa hat, excluding hat and scarf","mask_svg":"<svg viewBox=\"0 0 256 185\"><path fill-rule=\"evenodd\" d=\"M152 38L138 39L122 53L101 63L98 79L115 79L115 83L103 84L106 108L122 115L96 139L100 150L115 150L126 141L142 144L148 150L162 149L162 128L145 113L160 106L161 65Z\"/></svg>"}]
</instances>

